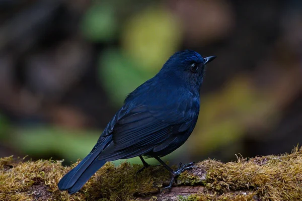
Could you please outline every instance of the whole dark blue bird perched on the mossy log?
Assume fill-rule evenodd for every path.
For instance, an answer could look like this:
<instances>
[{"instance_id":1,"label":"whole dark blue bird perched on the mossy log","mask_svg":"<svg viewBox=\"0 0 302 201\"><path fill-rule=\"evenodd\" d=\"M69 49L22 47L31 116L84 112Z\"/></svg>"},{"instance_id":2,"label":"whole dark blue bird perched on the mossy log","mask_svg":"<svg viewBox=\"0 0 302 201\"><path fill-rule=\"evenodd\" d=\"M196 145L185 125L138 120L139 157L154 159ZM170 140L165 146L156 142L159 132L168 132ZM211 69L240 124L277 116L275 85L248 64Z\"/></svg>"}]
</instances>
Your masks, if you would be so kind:
<instances>
[{"instance_id":1,"label":"whole dark blue bird perched on the mossy log","mask_svg":"<svg viewBox=\"0 0 302 201\"><path fill-rule=\"evenodd\" d=\"M91 152L60 179L58 188L73 194L107 161L139 156L143 168L149 166L144 158L153 157L170 172L170 184L164 189L171 189L175 178L194 163L180 164L174 171L160 158L191 135L198 119L206 64L215 58L203 58L188 49L174 53L153 78L126 96Z\"/></svg>"}]
</instances>

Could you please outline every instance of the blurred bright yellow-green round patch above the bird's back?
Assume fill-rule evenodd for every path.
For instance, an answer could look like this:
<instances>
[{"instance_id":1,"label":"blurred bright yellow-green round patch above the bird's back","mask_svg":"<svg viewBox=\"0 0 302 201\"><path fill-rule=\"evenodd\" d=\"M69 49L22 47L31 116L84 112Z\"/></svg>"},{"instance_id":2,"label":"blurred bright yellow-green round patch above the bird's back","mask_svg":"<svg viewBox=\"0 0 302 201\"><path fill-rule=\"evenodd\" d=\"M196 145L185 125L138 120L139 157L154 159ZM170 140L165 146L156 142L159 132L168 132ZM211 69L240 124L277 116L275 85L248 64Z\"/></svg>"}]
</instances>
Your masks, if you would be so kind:
<instances>
[{"instance_id":1,"label":"blurred bright yellow-green round patch above the bird's back","mask_svg":"<svg viewBox=\"0 0 302 201\"><path fill-rule=\"evenodd\" d=\"M122 48L141 71L155 74L175 51L182 37L175 17L163 8L148 8L125 24Z\"/></svg>"}]
</instances>

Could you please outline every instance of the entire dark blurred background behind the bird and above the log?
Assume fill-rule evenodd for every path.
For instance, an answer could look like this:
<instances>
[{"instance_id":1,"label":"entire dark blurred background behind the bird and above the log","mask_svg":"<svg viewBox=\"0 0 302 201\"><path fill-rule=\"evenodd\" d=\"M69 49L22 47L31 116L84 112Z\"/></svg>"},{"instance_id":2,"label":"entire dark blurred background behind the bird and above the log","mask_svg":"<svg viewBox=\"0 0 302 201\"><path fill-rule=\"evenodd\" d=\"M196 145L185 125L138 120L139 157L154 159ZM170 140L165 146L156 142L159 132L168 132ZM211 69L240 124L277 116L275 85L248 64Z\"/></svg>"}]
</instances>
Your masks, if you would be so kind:
<instances>
[{"instance_id":1,"label":"entire dark blurred background behind the bird and above the log","mask_svg":"<svg viewBox=\"0 0 302 201\"><path fill-rule=\"evenodd\" d=\"M193 134L165 160L302 144L299 0L0 0L0 157L83 159L124 97L184 49L217 59Z\"/></svg>"}]
</instances>

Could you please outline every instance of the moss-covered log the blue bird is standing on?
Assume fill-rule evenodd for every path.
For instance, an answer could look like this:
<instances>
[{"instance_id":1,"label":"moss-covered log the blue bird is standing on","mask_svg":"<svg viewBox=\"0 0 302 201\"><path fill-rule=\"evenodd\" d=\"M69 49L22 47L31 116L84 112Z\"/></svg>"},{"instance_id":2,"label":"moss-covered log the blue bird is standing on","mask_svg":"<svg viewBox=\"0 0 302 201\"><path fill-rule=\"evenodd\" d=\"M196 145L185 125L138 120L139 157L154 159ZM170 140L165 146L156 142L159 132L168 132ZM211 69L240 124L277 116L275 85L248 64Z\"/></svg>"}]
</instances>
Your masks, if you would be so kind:
<instances>
[{"instance_id":1,"label":"moss-covered log the blue bird is standing on","mask_svg":"<svg viewBox=\"0 0 302 201\"><path fill-rule=\"evenodd\" d=\"M302 200L302 149L297 147L278 156L199 162L162 193L169 172L149 167L135 177L140 167L106 163L78 193L68 195L57 188L70 170L61 161L0 158L0 200Z\"/></svg>"}]
</instances>

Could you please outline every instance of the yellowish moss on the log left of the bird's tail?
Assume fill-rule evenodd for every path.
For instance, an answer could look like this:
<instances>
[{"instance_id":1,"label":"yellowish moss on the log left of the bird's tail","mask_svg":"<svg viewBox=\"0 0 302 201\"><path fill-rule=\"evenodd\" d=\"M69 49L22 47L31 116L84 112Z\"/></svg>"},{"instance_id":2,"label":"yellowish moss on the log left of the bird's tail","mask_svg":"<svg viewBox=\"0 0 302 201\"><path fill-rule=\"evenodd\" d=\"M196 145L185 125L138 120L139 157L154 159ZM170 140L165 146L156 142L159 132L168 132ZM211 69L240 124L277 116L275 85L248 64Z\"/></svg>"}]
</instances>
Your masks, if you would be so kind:
<instances>
[{"instance_id":1,"label":"yellowish moss on the log left of the bird's tail","mask_svg":"<svg viewBox=\"0 0 302 201\"><path fill-rule=\"evenodd\" d=\"M49 192L57 191L56 182L63 172L56 161L13 160L13 157L0 158L0 200L37 200L41 197L55 198ZM36 191L36 193L33 192ZM44 190L40 194L40 190Z\"/></svg>"}]
</instances>

